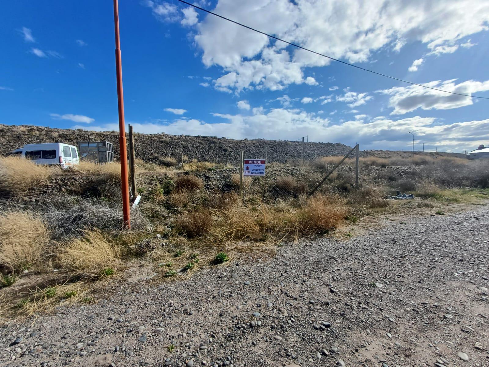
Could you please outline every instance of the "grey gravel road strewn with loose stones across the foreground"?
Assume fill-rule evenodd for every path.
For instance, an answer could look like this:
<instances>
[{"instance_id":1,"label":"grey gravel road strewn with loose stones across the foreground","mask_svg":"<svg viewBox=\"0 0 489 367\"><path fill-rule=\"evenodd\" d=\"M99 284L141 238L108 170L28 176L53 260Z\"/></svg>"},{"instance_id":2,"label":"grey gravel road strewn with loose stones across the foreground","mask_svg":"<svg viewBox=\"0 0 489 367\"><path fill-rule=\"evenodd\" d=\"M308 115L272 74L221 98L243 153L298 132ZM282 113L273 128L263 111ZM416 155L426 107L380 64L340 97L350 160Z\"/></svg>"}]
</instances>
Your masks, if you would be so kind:
<instances>
[{"instance_id":1,"label":"grey gravel road strewn with loose stones across the foreground","mask_svg":"<svg viewBox=\"0 0 489 367\"><path fill-rule=\"evenodd\" d=\"M489 207L405 221L171 283L140 268L5 325L0 366L489 366Z\"/></svg>"}]
</instances>

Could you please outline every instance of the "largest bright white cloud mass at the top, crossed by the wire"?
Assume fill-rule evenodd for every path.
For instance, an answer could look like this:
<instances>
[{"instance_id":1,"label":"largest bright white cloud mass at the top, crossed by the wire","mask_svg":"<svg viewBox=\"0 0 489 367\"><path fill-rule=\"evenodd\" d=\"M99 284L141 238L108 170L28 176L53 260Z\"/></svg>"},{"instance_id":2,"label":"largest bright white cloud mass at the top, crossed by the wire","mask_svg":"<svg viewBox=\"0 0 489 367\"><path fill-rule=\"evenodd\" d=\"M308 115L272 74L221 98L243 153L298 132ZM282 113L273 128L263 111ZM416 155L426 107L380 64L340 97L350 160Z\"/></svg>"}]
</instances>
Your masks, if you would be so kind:
<instances>
[{"instance_id":1,"label":"largest bright white cloud mass at the top, crossed by the wire","mask_svg":"<svg viewBox=\"0 0 489 367\"><path fill-rule=\"evenodd\" d=\"M173 5L154 1L146 4L167 21L182 19ZM399 51L415 42L437 55L453 52L465 37L487 30L489 20L487 0L432 0L429 6L424 0L218 0L213 10L353 63L372 61L371 55L380 49ZM352 25L352 19L359 21ZM203 17L195 30L194 41L202 51L203 64L217 65L222 75L228 76L218 78L216 89L223 92L283 90L289 84L307 82L304 68L331 62L212 16Z\"/></svg>"}]
</instances>

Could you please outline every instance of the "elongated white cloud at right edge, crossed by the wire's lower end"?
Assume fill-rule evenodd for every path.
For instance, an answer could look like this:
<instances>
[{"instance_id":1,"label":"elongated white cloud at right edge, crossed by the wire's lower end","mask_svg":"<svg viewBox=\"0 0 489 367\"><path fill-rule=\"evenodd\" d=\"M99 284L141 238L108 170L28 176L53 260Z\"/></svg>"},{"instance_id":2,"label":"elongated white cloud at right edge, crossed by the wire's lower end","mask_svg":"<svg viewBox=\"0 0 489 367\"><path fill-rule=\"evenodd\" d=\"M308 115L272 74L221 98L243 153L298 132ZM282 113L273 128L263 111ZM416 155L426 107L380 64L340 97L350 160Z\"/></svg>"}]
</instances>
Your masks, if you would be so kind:
<instances>
[{"instance_id":1,"label":"elongated white cloud at right edge, crossed by the wire's lower end","mask_svg":"<svg viewBox=\"0 0 489 367\"><path fill-rule=\"evenodd\" d=\"M444 82L435 80L429 83L423 83L423 85L468 95L475 92L489 91L489 80L485 82L467 80L455 84L456 80L451 79L445 80ZM473 104L473 98L433 91L416 85L395 87L377 92L390 95L389 106L394 108L391 115L402 115L414 111L417 108L422 108L423 110L449 110Z\"/></svg>"}]
</instances>

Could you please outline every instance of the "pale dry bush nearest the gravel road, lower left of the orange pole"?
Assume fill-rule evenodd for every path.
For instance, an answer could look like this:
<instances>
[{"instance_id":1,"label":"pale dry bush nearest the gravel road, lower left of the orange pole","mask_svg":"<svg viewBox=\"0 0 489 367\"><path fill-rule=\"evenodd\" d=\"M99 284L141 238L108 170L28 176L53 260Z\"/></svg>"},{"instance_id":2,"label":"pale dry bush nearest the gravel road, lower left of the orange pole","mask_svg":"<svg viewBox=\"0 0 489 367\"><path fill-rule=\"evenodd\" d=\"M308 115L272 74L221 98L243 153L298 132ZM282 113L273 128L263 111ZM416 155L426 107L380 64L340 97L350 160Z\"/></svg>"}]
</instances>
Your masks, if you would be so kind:
<instances>
[{"instance_id":1,"label":"pale dry bush nearest the gravel road, lower left of the orange pole","mask_svg":"<svg viewBox=\"0 0 489 367\"><path fill-rule=\"evenodd\" d=\"M85 231L83 238L74 238L61 249L60 264L79 275L100 277L104 271L115 269L120 249L109 243L98 230Z\"/></svg>"}]
</instances>

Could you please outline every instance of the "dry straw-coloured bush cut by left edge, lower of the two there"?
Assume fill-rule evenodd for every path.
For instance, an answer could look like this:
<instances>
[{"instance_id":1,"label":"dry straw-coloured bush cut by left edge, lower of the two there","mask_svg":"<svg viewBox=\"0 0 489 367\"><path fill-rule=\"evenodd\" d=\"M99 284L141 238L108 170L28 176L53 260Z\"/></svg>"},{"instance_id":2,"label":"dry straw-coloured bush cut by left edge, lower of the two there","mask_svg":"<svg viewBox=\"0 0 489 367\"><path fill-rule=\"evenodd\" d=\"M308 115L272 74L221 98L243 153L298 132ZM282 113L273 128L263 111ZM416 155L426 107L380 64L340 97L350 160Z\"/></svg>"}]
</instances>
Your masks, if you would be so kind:
<instances>
[{"instance_id":1,"label":"dry straw-coloured bush cut by left edge, lower of the two there","mask_svg":"<svg viewBox=\"0 0 489 367\"><path fill-rule=\"evenodd\" d=\"M49 230L31 212L0 214L0 271L2 273L35 266L49 243Z\"/></svg>"}]
</instances>

